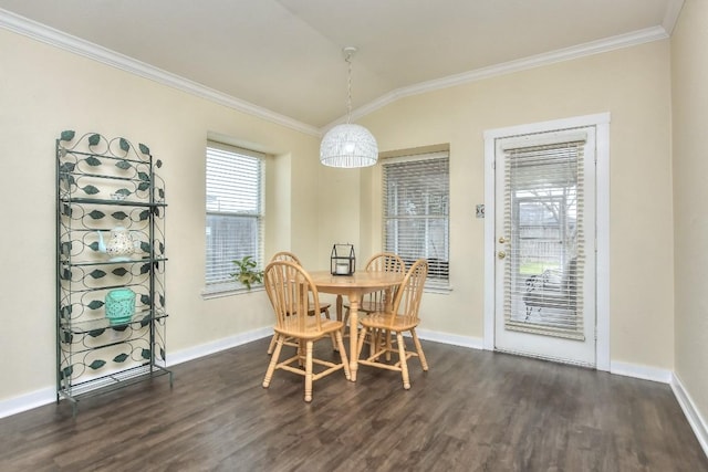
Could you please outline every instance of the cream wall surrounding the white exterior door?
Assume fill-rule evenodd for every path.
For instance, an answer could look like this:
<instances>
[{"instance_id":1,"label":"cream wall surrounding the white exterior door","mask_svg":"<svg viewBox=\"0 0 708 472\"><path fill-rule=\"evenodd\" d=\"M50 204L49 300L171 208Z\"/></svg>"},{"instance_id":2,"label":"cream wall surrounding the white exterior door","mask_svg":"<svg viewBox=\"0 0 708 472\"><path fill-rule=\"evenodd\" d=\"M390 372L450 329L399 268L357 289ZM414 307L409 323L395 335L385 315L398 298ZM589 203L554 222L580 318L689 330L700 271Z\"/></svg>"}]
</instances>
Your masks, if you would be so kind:
<instances>
[{"instance_id":1,"label":"cream wall surrounding the white exterior door","mask_svg":"<svg viewBox=\"0 0 708 472\"><path fill-rule=\"evenodd\" d=\"M673 368L669 63L668 41L653 42L410 96L361 120L381 150L450 145L454 290L426 294L423 328L483 337L483 132L610 112L611 359ZM378 170L364 172L378 189ZM362 192L372 241L379 199Z\"/></svg>"}]
</instances>

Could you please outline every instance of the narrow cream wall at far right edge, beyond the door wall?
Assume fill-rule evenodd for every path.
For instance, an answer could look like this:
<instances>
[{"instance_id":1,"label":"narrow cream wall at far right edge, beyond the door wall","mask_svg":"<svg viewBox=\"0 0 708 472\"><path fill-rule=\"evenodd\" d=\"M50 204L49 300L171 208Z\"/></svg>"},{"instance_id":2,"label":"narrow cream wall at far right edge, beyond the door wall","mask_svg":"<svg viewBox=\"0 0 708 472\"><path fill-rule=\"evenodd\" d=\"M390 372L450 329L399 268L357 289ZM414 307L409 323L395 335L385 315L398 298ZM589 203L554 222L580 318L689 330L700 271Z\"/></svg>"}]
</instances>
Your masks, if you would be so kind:
<instances>
[{"instance_id":1,"label":"narrow cream wall at far right edge, beyond the door wall","mask_svg":"<svg viewBox=\"0 0 708 472\"><path fill-rule=\"evenodd\" d=\"M687 0L671 38L676 361L708 418L708 2ZM705 427L705 426L704 426Z\"/></svg>"}]
</instances>

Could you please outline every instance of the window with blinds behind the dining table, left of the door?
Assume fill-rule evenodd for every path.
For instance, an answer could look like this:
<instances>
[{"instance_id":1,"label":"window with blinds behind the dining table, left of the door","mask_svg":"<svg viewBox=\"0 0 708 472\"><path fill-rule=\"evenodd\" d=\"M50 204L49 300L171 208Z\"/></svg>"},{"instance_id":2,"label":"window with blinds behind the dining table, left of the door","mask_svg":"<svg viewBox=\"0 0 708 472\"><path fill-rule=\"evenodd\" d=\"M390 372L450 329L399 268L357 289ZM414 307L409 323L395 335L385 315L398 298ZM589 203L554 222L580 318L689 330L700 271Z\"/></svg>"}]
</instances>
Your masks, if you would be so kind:
<instances>
[{"instance_id":1,"label":"window with blinds behind the dining table, left of the door","mask_svg":"<svg viewBox=\"0 0 708 472\"><path fill-rule=\"evenodd\" d=\"M428 287L448 286L449 182L447 151L383 161L384 251L427 260Z\"/></svg>"}]
</instances>

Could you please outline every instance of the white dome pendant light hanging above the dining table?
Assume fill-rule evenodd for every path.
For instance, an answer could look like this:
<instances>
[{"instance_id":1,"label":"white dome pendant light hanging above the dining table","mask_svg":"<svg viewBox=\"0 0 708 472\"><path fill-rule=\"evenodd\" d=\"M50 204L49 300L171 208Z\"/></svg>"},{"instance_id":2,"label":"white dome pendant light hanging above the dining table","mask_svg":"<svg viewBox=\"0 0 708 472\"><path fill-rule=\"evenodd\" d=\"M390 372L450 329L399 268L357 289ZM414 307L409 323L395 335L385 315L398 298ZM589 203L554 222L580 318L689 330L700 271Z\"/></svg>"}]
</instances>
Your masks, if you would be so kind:
<instances>
[{"instance_id":1,"label":"white dome pendant light hanging above the dining table","mask_svg":"<svg viewBox=\"0 0 708 472\"><path fill-rule=\"evenodd\" d=\"M344 48L344 60L348 64L346 123L330 129L320 144L320 162L330 167L368 167L378 159L378 145L374 136L352 119L352 56L356 48Z\"/></svg>"}]
</instances>

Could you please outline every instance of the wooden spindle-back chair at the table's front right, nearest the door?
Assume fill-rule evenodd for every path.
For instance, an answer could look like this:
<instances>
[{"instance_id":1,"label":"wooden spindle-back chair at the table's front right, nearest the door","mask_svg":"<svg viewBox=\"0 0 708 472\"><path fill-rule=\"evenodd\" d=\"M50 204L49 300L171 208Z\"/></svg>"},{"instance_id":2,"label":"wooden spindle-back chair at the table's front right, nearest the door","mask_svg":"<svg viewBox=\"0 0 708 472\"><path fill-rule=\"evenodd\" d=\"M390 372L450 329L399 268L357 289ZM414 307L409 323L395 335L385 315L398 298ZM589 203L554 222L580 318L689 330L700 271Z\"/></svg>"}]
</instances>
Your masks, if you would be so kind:
<instances>
[{"instance_id":1,"label":"wooden spindle-back chair at the table's front right, nearest the door","mask_svg":"<svg viewBox=\"0 0 708 472\"><path fill-rule=\"evenodd\" d=\"M423 346L416 334L416 327L420 323L418 311L420 307L420 298L425 280L428 275L428 263L424 259L417 260L406 273L403 284L398 289L394 298L391 311L373 312L360 318L362 329L358 337L357 358L358 364L372 367L378 367L388 370L397 370L403 377L403 388L410 388L410 378L408 376L408 359L418 357L423 370L428 370L428 363L423 353ZM368 356L361 358L364 340L369 332L383 334L396 334L396 344L392 346L384 336L375 335L372 349ZM414 350L406 348L403 334L409 332L415 346ZM382 356L393 354L397 356L394 364L381 360Z\"/></svg>"}]
</instances>

